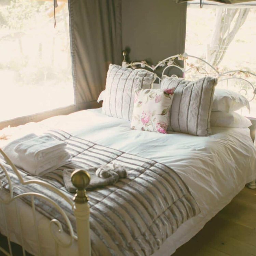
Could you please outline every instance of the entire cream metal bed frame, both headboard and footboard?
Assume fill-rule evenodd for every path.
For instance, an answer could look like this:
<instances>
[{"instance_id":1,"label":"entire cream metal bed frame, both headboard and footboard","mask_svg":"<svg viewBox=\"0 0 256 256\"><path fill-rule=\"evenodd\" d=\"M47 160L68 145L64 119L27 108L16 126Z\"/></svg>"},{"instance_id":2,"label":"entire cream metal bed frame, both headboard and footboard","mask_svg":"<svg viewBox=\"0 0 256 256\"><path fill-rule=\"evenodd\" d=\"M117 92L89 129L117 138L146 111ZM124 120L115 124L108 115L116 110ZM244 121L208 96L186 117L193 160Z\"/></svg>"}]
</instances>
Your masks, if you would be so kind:
<instances>
[{"instance_id":1,"label":"entire cream metal bed frame, both headboard and footboard","mask_svg":"<svg viewBox=\"0 0 256 256\"><path fill-rule=\"evenodd\" d=\"M250 88L252 90L252 95L253 95L253 97L251 97L249 99L250 101L254 99L254 95L256 93L254 84L252 82L246 80L244 77L241 77L241 74L244 75L245 77L256 77L256 74L254 74L252 72L243 71L243 70L233 70L233 71L221 73L217 69L215 69L213 66L211 66L208 62L206 62L198 57L187 55L187 54L170 56L162 61L159 61L159 63L156 66L150 66L147 64L146 61L127 63L126 56L127 56L127 53L126 53L126 51L124 51L123 52L123 62L122 62L123 67L148 68L153 72L155 72L157 68L161 67L162 75L165 74L167 69L169 69L169 68L178 68L179 70L181 70L183 72L184 78L192 70L196 70L201 75L211 75L212 73L214 73L215 75L213 74L212 76L218 77L219 82L226 81L226 86L228 86L228 81L230 79L237 79L237 80L243 81L244 83L247 83L247 87L242 87L239 91L243 91L244 94L248 96L249 94L248 94L247 88ZM190 64L190 68L188 68L186 70L186 61L188 58L194 58L196 60L201 61L203 63L203 65L207 66L207 68L200 66L200 65L191 65ZM176 59L184 60L184 62L185 62L184 68L181 67L176 62ZM209 71L209 68L211 69L211 71ZM176 75L174 75L174 76L176 76ZM157 77L160 82L161 78L159 76L157 76ZM32 209L32 213L33 213L33 219L31 221L33 221L34 227L35 227L36 240L37 240L37 245L39 248L38 255L42 255L42 252L41 252L40 243L39 243L39 230L37 227L37 218L36 218L36 210L35 210L35 203L34 203L34 199L36 197L43 198L49 204L51 204L53 207L55 207L59 211L59 213L62 215L63 219L65 220L65 222L67 224L67 227L69 228L69 238L70 238L69 241L68 242L62 241L60 239L60 234L63 233L64 231L63 231L61 223L57 219L52 219L50 221L51 236L53 237L53 239L55 241L55 255L59 255L59 247L63 247L63 248L70 247L73 244L74 240L77 240L79 256L90 256L91 255L90 228L89 228L90 210L89 210L88 198L87 198L86 190L85 190L86 186L88 186L88 184L90 182L89 174L85 170L82 170L82 169L75 170L72 173L72 183L77 188L77 193L74 196L73 201L72 201L67 196L65 196L59 189L57 189L56 187L54 187L51 184L48 184L46 182L39 181L36 179L30 180L30 181L24 181L22 178L22 175L20 175L20 173L16 169L15 165L11 162L9 157L1 150L1 148L0 148L0 154L4 157L5 161L11 166L11 168L13 169L14 173L17 175L19 182L21 184L23 184L24 186L26 186L28 184L39 184L39 185L44 186L47 189L53 191L53 193L56 193L58 196L62 197L62 199L65 200L73 209L74 216L76 218L76 228L77 228L77 235L75 235L74 231L73 231L73 227L71 225L71 222L70 222L67 214L65 213L65 211L62 210L56 202L54 202L52 199L46 197L45 195L31 192L31 193L24 193L24 194L14 196L13 184L12 184L12 181L8 174L8 171L5 169L5 167L0 162L0 167L2 168L2 170L4 172L6 179L8 181L8 185L9 185L9 197L7 199L6 199L6 197L3 199L2 198L3 194L1 194L1 192L3 190L3 186L2 186L2 181L0 180L0 205L2 208L3 215L4 215L4 216L1 216L1 218L4 219L4 223L5 223L6 237L8 240L9 252L7 252L6 250L4 250L1 247L0 247L0 251L3 252L5 255L13 256L10 233L8 231L8 225L7 225L6 216L5 216L6 205L8 205L12 202L16 202L17 199L20 199L21 197L30 196L31 205L32 205L31 209ZM256 181L252 181L250 184L248 184L248 187L252 188L252 189L256 188ZM4 193L6 195L6 191L4 191ZM25 252L26 248L24 246L21 219L19 218L19 212L18 212L16 203L15 203L15 208L16 208L16 214L17 214L17 218L18 218L19 231L21 234L20 245L22 246L23 255L26 255L26 252ZM57 232L56 232L56 227L58 230Z\"/></svg>"}]
</instances>

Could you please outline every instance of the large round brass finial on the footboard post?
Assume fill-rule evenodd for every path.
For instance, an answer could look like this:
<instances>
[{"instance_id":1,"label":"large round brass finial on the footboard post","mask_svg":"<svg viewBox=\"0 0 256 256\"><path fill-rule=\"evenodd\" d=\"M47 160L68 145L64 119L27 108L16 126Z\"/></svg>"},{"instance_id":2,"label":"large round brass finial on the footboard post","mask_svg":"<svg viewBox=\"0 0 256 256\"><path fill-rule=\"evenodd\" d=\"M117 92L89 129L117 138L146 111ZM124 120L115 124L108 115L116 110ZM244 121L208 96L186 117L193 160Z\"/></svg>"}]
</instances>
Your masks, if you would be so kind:
<instances>
[{"instance_id":1,"label":"large round brass finial on the footboard post","mask_svg":"<svg viewBox=\"0 0 256 256\"><path fill-rule=\"evenodd\" d=\"M77 188L76 194L73 198L75 203L88 202L85 188L89 185L90 179L90 174L83 169L75 170L71 174L71 181L73 185Z\"/></svg>"}]
</instances>

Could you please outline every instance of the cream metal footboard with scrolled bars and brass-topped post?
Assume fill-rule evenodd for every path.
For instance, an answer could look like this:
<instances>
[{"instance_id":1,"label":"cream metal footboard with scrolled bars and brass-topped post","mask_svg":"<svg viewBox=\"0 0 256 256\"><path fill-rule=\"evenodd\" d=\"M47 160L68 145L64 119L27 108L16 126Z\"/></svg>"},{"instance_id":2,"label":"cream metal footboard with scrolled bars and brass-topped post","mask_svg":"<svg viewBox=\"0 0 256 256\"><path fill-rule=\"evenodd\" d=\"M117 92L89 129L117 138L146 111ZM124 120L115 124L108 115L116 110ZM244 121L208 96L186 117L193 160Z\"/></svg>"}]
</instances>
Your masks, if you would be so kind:
<instances>
[{"instance_id":1,"label":"cream metal footboard with scrolled bars and brass-topped post","mask_svg":"<svg viewBox=\"0 0 256 256\"><path fill-rule=\"evenodd\" d=\"M57 189L55 186L48 184L47 182L40 181L37 179L34 180L26 180L24 181L22 175L19 173L19 171L16 169L15 165L11 162L9 157L1 150L0 148L0 154L4 157L5 162L8 163L8 165L11 166L12 175L16 175L18 177L19 182L22 184L22 186L28 186L28 185L40 185L44 188L47 188L48 190L51 190L53 193L56 193L59 197L61 197L61 200L65 200L68 205L73 209L73 213L75 216L76 221L76 234L74 234L73 226L71 224L71 221L68 217L68 214L63 210L53 199L45 196L44 194L37 193L37 192L26 192L23 194L15 194L15 184L12 184L12 176L10 173L6 170L4 162L0 161L0 170L2 169L2 174L4 175L4 178L0 179L0 218L1 218L1 224L3 228L4 235L7 237L8 240L8 246L9 246L9 252L6 252L3 248L0 247L0 252L3 252L5 255L13 255L12 253L12 247L11 247L11 241L13 240L11 237L11 232L9 230L10 225L10 209L11 215L16 216L17 218L17 224L18 224L18 233L19 233L19 239L18 241L14 241L22 246L23 255L25 255L25 250L29 251L29 249L26 248L26 243L28 243L26 240L26 236L24 235L24 230L27 225L26 222L31 222L31 225L34 227L34 241L36 241L36 248L34 249L33 254L35 255L46 255L44 253L44 248L42 248L40 240L40 230L38 228L38 212L37 212L37 200L44 200L49 204L52 208L56 209L59 213L59 216L62 218L62 223L59 219L53 218L49 219L49 234L47 234L49 237L51 237L54 246L53 246L53 252L52 255L60 255L63 252L63 250L68 250L69 248L78 245L77 248L77 255L79 256L90 256L91 255L91 247L90 247L90 228L89 228L89 204L88 204L88 197L86 195L86 186L88 186L90 182L90 176L89 174L82 169L75 170L72 173L71 179L73 185L77 188L77 193L75 194L73 201L70 197L67 197L64 193L62 193L59 189ZM2 177L3 177L2 175ZM8 189L6 189L6 184L8 185ZM24 197L30 198L30 204L31 204L31 210L30 210L30 217L28 216L27 219L24 219L23 217L19 216L20 209L17 206L21 199ZM19 202L18 202L19 201ZM68 231L66 229L66 232L63 230L63 220L65 222L65 226L68 228ZM28 238L29 240L29 238ZM76 242L77 241L77 242ZM76 248L76 247L75 247ZM69 255L69 253L67 253Z\"/></svg>"}]
</instances>

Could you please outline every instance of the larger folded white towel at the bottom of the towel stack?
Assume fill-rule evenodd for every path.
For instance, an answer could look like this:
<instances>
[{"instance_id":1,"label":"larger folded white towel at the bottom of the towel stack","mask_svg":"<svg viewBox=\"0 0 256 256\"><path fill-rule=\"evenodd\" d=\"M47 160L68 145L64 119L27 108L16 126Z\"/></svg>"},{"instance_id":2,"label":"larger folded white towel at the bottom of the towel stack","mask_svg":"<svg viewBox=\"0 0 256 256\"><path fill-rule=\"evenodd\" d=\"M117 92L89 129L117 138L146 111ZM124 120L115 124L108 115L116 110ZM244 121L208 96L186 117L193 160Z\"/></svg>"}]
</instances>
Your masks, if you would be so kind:
<instances>
[{"instance_id":1,"label":"larger folded white towel at the bottom of the towel stack","mask_svg":"<svg viewBox=\"0 0 256 256\"><path fill-rule=\"evenodd\" d=\"M20 139L10 142L3 148L3 151L8 155L14 165L24 169L32 175L41 176L70 162L70 155L66 150L61 150L58 153L56 152L52 157L48 157L47 159L45 158L40 161L32 161L27 158L26 155L17 154L15 152L14 149L17 146L17 143L32 139L34 136L35 134L28 134Z\"/></svg>"}]
</instances>

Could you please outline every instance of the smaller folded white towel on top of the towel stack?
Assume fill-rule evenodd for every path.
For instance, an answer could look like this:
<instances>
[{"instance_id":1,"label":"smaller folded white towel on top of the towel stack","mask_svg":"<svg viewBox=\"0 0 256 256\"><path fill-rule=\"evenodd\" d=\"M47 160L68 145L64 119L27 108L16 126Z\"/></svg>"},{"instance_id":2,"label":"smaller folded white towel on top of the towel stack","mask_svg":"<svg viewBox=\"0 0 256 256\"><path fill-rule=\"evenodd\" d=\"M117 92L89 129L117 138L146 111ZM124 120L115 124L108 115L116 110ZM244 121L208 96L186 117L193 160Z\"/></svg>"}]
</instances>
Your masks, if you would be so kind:
<instances>
[{"instance_id":1,"label":"smaller folded white towel on top of the towel stack","mask_svg":"<svg viewBox=\"0 0 256 256\"><path fill-rule=\"evenodd\" d=\"M15 152L25 155L31 161L47 159L54 152L64 150L67 143L54 139L49 135L35 136L26 141L21 141L15 147Z\"/></svg>"}]
</instances>

